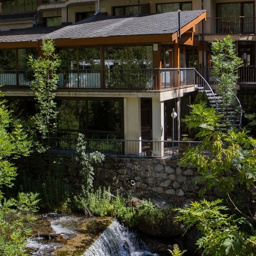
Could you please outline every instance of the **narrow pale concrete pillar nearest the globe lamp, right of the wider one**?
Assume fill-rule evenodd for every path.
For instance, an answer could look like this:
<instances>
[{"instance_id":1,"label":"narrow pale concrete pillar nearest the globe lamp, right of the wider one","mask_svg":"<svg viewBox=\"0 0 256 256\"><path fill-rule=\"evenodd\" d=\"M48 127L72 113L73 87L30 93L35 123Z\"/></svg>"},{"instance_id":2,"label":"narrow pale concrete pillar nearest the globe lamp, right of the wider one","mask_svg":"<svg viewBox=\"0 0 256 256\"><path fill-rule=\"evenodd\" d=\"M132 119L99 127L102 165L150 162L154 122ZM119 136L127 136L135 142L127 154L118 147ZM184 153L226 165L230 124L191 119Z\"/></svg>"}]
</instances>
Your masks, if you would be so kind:
<instances>
[{"instance_id":1,"label":"narrow pale concrete pillar nearest the globe lamp, right of the wider one","mask_svg":"<svg viewBox=\"0 0 256 256\"><path fill-rule=\"evenodd\" d=\"M152 136L153 140L164 140L164 102L152 98ZM153 142L153 156L164 156L164 142Z\"/></svg>"}]
</instances>

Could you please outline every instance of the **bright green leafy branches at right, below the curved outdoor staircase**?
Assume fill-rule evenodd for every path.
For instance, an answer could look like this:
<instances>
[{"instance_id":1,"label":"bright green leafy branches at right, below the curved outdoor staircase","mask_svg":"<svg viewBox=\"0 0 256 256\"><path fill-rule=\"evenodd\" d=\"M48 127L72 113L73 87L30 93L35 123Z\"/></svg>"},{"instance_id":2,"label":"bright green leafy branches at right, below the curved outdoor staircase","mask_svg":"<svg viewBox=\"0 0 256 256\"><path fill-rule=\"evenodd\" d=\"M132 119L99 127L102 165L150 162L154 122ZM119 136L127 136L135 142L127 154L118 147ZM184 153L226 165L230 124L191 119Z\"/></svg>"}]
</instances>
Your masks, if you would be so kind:
<instances>
[{"instance_id":1,"label":"bright green leafy branches at right, below the curved outdoor staircase","mask_svg":"<svg viewBox=\"0 0 256 256\"><path fill-rule=\"evenodd\" d=\"M197 167L200 176L195 182L203 181L205 184L200 189L200 195L213 186L229 194L237 179L247 187L255 186L256 140L244 131L222 133L218 130L219 116L213 109L205 109L201 104L191 105L191 108L191 116L186 117L186 124L191 128L200 127L196 137L202 139L202 143L190 148L180 164ZM202 152L206 150L210 150L212 156L203 155Z\"/></svg>"}]
</instances>

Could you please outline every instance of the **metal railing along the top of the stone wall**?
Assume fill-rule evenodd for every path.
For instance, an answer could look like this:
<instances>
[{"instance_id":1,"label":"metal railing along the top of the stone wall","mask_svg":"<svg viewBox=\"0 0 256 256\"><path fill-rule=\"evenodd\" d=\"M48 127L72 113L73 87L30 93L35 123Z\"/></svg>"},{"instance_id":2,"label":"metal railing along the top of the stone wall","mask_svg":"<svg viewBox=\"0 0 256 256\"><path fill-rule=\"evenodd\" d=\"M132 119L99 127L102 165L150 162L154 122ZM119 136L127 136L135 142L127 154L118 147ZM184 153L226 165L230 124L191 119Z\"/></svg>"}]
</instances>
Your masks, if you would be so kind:
<instances>
[{"instance_id":1,"label":"metal railing along the top of the stone wall","mask_svg":"<svg viewBox=\"0 0 256 256\"><path fill-rule=\"evenodd\" d=\"M76 151L76 137L51 137L50 140L42 139L42 143L47 144L53 150ZM173 141L172 140L121 140L121 139L87 139L88 153L98 151L106 155L116 156L136 156L136 157L182 157L187 148L196 147L201 141ZM211 156L210 149L205 150L203 155Z\"/></svg>"}]
</instances>

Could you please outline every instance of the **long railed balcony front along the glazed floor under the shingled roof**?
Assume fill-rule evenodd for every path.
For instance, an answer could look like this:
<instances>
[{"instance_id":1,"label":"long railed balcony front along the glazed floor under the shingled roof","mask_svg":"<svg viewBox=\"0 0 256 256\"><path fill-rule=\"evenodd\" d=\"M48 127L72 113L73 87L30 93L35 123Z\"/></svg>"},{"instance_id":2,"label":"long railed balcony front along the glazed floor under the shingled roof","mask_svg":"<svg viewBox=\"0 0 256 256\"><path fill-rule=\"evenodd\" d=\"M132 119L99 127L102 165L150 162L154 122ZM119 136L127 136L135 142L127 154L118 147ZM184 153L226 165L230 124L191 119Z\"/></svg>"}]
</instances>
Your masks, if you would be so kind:
<instances>
[{"instance_id":1,"label":"long railed balcony front along the glazed floor under the shingled roof","mask_svg":"<svg viewBox=\"0 0 256 256\"><path fill-rule=\"evenodd\" d=\"M190 69L84 69L58 70L59 90L167 90L195 85L196 71ZM30 70L0 71L2 89L30 89Z\"/></svg>"}]
</instances>

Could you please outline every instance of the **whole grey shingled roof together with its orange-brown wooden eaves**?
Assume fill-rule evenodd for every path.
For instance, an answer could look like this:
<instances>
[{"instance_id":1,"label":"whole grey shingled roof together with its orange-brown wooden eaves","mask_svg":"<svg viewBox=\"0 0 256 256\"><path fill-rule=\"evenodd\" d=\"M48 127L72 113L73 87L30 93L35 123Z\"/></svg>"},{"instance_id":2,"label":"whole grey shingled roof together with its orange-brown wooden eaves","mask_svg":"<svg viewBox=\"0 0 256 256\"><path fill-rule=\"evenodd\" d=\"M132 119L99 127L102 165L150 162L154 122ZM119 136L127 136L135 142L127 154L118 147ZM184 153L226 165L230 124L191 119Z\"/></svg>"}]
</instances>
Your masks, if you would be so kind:
<instances>
[{"instance_id":1,"label":"whole grey shingled roof together with its orange-brown wooden eaves","mask_svg":"<svg viewBox=\"0 0 256 256\"><path fill-rule=\"evenodd\" d=\"M132 16L99 14L70 26L52 28L53 31L49 33L38 27L27 29L27 35L26 30L20 34L17 31L0 31L0 48L38 47L43 38L54 39L56 47L178 42L193 45L196 25L205 20L206 11L180 11L180 20L178 13L177 11ZM39 33L37 30L44 32Z\"/></svg>"}]
</instances>

